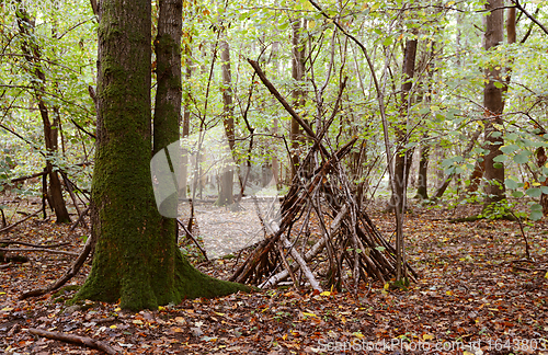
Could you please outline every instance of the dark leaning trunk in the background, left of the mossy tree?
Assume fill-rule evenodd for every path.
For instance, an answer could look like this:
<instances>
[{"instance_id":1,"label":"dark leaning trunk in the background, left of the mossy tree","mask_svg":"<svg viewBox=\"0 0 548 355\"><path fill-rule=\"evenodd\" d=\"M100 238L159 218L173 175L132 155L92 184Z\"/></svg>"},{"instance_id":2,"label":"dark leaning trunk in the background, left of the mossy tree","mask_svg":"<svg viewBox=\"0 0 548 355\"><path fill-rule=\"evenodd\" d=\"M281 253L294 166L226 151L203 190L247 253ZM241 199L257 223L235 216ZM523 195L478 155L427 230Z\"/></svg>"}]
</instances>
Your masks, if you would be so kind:
<instances>
[{"instance_id":1,"label":"dark leaning trunk in the background, left of the mossy tree","mask_svg":"<svg viewBox=\"0 0 548 355\"><path fill-rule=\"evenodd\" d=\"M45 101L43 100L45 93L45 82L46 75L42 70L41 62L41 50L36 42L34 41L34 21L31 21L28 13L24 5L21 5L18 10L18 24L20 33L22 34L24 41L21 44L23 54L27 64L32 67L33 75L36 80L33 81L33 88L35 92L36 101L38 102L38 111L42 117L42 123L44 126L44 142L46 146L46 173L49 178L49 186L47 188L47 201L55 211L55 217L57 222L69 222L70 216L65 205L65 199L62 197L61 183L59 181L59 175L52 163L53 154L57 151L57 140L58 140L58 127L60 125L59 116L54 118L54 125L49 119L49 111Z\"/></svg>"}]
</instances>

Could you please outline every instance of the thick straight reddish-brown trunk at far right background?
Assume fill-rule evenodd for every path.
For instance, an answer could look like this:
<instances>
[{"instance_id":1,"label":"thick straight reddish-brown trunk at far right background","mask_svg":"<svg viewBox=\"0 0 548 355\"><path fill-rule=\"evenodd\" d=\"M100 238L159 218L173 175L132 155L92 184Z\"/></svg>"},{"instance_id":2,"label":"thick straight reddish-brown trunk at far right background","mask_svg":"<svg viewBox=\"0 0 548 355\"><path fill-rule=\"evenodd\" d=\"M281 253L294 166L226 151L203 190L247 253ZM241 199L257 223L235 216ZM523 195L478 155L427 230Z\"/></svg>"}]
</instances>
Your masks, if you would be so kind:
<instances>
[{"instance_id":1,"label":"thick straight reddish-brown trunk at far right background","mask_svg":"<svg viewBox=\"0 0 548 355\"><path fill-rule=\"evenodd\" d=\"M498 46L503 39L503 0L489 0L486 4L487 10L491 11L486 18L486 50ZM495 82L501 82L501 67L491 65L486 69L488 83L483 89L483 106L486 116L486 149L489 150L484 157L487 180L486 184L486 206L504 199L504 165L496 163L495 158L502 154L500 150L504 145L502 133L499 127L502 125L502 111L504 107L502 100L502 88L496 88ZM501 85L499 85L501 87Z\"/></svg>"}]
</instances>

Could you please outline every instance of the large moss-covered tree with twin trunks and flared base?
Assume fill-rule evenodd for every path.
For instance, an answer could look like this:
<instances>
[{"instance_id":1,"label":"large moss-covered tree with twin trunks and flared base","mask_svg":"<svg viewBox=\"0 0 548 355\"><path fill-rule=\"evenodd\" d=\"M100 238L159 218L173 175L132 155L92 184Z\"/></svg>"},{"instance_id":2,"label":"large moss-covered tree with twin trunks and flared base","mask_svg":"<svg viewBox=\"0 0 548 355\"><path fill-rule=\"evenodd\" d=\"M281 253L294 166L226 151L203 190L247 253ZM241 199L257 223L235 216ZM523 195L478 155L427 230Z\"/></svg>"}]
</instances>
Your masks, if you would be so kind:
<instances>
[{"instance_id":1,"label":"large moss-covered tree with twin trunks and flared base","mask_svg":"<svg viewBox=\"0 0 548 355\"><path fill-rule=\"evenodd\" d=\"M161 217L153 199L151 152L179 138L181 9L180 0L160 1L152 149L150 1L101 2L92 182L92 238L98 244L77 300L119 299L122 308L139 310L249 289L204 275L183 259L174 220Z\"/></svg>"}]
</instances>

